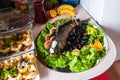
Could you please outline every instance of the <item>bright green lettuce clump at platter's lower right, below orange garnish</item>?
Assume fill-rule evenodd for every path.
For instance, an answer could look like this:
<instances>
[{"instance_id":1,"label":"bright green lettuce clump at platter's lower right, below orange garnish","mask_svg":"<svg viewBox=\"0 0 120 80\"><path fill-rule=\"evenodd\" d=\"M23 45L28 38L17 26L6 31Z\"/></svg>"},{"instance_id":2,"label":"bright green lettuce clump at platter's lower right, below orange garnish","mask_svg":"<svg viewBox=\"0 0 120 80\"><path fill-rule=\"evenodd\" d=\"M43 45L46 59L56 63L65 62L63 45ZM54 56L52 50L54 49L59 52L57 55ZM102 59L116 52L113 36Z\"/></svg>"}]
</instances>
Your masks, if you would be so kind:
<instances>
[{"instance_id":1,"label":"bright green lettuce clump at platter's lower right, below orange garnish","mask_svg":"<svg viewBox=\"0 0 120 80\"><path fill-rule=\"evenodd\" d=\"M101 52L97 52L89 46L83 47L80 56L75 56L69 63L72 72L81 72L88 70L96 65L98 59L105 55L105 48Z\"/></svg>"}]
</instances>

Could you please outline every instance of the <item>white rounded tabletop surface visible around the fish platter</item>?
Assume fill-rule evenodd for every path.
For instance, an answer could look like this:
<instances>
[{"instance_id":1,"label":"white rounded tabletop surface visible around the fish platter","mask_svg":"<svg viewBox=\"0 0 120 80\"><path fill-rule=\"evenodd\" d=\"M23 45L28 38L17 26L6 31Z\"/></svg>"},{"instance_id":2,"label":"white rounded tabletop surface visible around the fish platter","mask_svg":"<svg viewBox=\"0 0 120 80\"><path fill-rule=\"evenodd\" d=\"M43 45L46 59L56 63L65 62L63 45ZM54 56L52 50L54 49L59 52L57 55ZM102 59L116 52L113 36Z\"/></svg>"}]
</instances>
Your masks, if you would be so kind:
<instances>
[{"instance_id":1,"label":"white rounded tabletop surface visible around the fish platter","mask_svg":"<svg viewBox=\"0 0 120 80\"><path fill-rule=\"evenodd\" d=\"M76 18L80 18L81 20L85 20L91 18L85 11L78 5L76 7L77 15ZM52 23L59 18L65 18L65 16L57 16L56 18L50 19L48 22ZM36 39L39 32L44 28L44 25L34 24L33 27L33 37ZM116 48L113 41L107 36L108 40L108 51L104 59L93 67L90 70L80 72L80 73L61 73L49 68L46 68L38 61L38 68L40 73L40 80L87 80L99 76L104 73L110 66L113 64L116 57Z\"/></svg>"}]
</instances>

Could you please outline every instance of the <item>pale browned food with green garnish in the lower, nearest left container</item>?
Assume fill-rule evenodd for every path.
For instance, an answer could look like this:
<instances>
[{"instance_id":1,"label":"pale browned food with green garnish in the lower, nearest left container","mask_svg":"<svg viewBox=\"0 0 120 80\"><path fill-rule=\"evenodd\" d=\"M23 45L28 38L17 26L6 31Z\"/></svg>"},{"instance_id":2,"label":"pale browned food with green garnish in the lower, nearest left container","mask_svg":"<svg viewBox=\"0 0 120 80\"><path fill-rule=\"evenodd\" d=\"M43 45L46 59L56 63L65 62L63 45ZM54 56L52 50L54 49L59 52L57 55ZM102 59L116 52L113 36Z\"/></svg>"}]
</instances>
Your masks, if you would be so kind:
<instances>
[{"instance_id":1,"label":"pale browned food with green garnish in the lower, nearest left container","mask_svg":"<svg viewBox=\"0 0 120 80\"><path fill-rule=\"evenodd\" d=\"M34 52L0 62L0 80L35 80L38 70Z\"/></svg>"}]
</instances>

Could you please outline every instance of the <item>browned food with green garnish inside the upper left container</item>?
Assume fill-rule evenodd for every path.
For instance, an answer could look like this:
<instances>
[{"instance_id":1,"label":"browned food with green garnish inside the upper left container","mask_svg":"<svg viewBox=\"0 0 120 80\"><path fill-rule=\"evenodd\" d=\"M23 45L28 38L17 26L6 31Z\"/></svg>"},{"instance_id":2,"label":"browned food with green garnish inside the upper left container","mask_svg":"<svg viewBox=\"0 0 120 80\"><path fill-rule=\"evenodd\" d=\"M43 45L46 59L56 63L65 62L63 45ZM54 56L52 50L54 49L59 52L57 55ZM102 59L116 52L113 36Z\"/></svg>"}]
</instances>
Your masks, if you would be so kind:
<instances>
[{"instance_id":1,"label":"browned food with green garnish inside the upper left container","mask_svg":"<svg viewBox=\"0 0 120 80\"><path fill-rule=\"evenodd\" d=\"M28 30L17 33L0 35L0 56L9 56L31 48L32 38Z\"/></svg>"}]
</instances>

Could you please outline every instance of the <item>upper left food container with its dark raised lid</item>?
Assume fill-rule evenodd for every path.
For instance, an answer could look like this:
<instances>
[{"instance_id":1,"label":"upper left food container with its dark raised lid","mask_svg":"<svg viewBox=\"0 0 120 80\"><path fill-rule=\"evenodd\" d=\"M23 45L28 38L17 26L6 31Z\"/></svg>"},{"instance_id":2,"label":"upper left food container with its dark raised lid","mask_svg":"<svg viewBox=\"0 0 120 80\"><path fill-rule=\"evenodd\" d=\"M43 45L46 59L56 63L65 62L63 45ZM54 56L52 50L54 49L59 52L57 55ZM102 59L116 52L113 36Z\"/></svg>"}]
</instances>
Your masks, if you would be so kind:
<instances>
[{"instance_id":1,"label":"upper left food container with its dark raised lid","mask_svg":"<svg viewBox=\"0 0 120 80\"><path fill-rule=\"evenodd\" d=\"M14 15L0 21L0 60L34 49L32 22L29 15Z\"/></svg>"}]
</instances>

